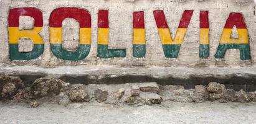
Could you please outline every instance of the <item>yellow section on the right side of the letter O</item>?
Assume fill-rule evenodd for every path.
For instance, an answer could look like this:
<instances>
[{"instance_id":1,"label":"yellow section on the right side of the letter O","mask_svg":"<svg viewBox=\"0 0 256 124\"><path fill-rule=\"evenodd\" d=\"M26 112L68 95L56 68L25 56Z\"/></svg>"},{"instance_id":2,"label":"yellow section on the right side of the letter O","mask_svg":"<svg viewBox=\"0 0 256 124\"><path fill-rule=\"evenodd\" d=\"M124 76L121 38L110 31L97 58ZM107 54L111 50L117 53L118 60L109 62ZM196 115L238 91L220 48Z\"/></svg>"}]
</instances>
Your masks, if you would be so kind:
<instances>
[{"instance_id":1,"label":"yellow section on the right side of the letter O","mask_svg":"<svg viewBox=\"0 0 256 124\"><path fill-rule=\"evenodd\" d=\"M80 44L90 45L91 36L92 36L91 28L80 28Z\"/></svg>"}]
</instances>

